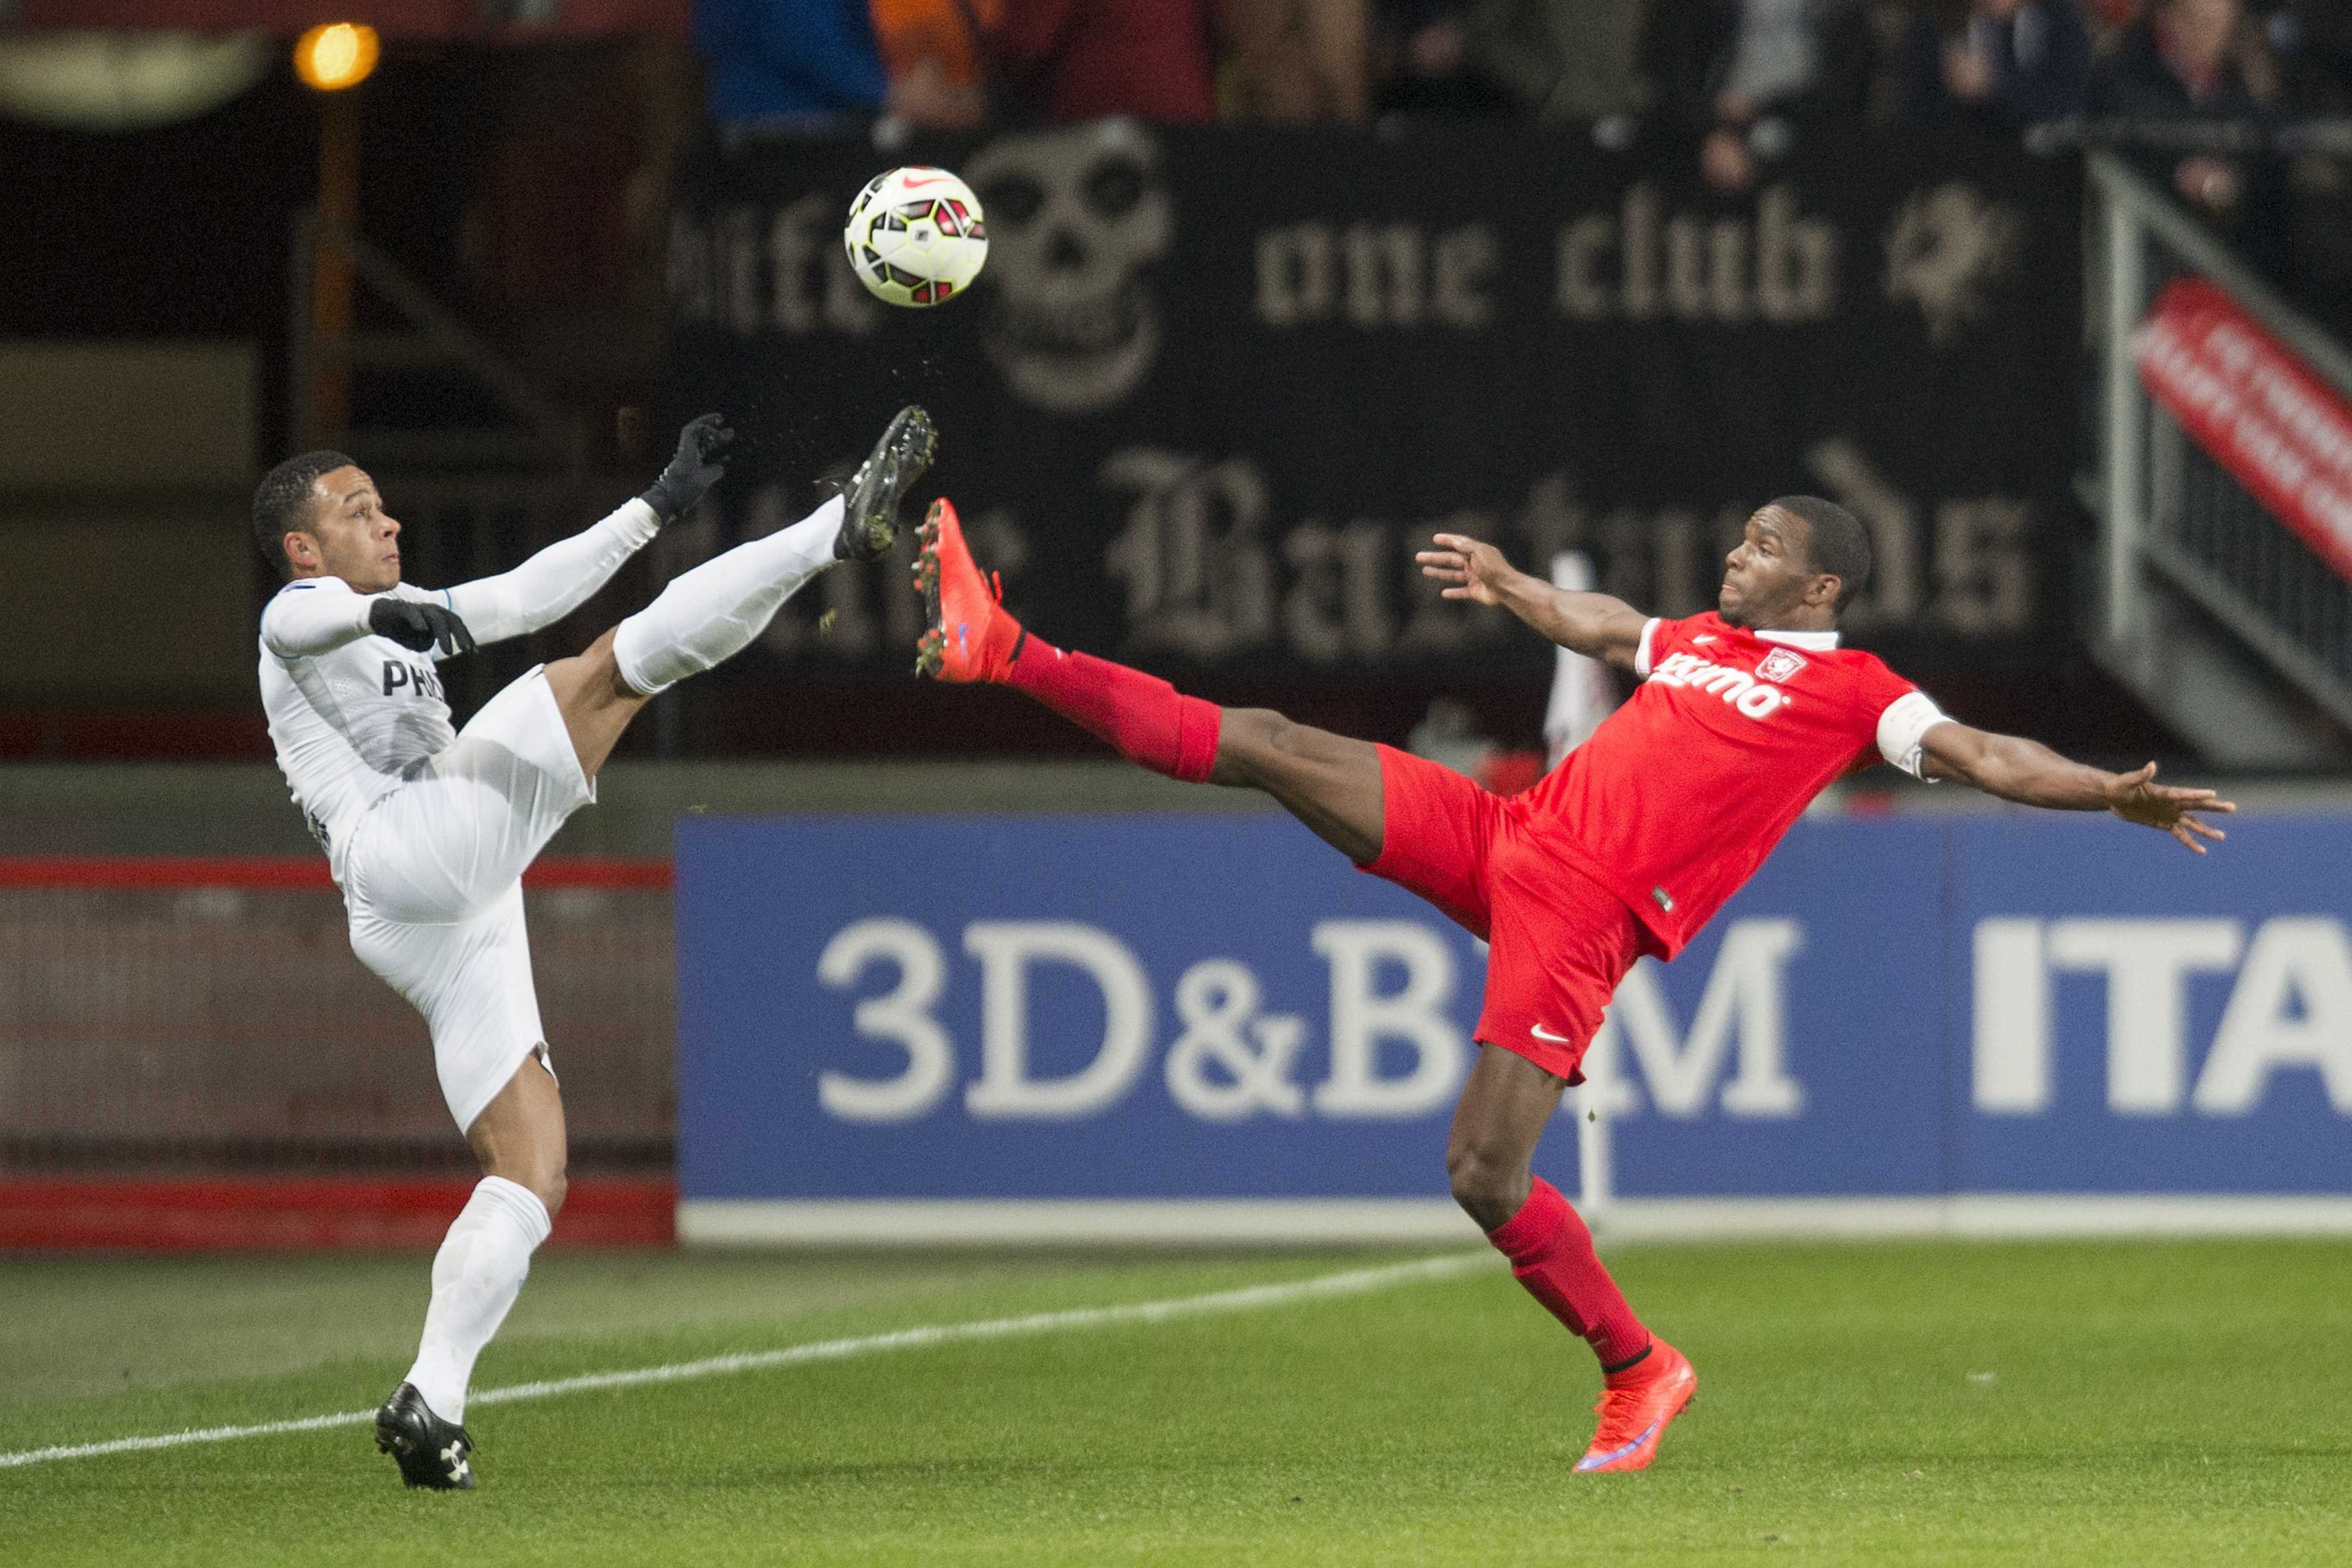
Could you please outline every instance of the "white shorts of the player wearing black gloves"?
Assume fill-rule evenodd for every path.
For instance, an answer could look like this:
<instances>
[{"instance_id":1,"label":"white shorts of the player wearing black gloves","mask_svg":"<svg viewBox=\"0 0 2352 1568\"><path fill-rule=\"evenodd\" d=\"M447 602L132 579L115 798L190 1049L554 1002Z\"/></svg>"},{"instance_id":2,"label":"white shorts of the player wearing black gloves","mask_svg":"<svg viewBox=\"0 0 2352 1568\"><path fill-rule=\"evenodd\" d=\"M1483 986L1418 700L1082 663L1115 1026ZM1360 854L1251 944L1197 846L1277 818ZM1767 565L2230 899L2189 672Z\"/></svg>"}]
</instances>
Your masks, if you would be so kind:
<instances>
[{"instance_id":1,"label":"white shorts of the player wearing black gloves","mask_svg":"<svg viewBox=\"0 0 2352 1568\"><path fill-rule=\"evenodd\" d=\"M350 837L350 950L423 1013L459 1131L527 1056L546 1060L522 870L593 802L541 668L489 698Z\"/></svg>"}]
</instances>

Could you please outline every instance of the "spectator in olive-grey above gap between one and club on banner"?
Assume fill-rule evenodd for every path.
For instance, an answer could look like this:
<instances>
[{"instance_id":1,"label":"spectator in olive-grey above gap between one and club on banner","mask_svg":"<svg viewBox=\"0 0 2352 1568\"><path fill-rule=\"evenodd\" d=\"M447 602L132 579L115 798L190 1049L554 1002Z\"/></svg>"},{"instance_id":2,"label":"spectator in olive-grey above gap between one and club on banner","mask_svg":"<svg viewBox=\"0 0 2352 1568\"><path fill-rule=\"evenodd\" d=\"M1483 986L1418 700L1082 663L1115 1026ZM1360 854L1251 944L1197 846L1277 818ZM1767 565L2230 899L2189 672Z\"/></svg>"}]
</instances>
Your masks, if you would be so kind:
<instances>
[{"instance_id":1,"label":"spectator in olive-grey above gap between one and club on banner","mask_svg":"<svg viewBox=\"0 0 2352 1568\"><path fill-rule=\"evenodd\" d=\"M1468 52L1538 120L1642 115L1656 103L1649 14L1651 0L1477 0Z\"/></svg>"}]
</instances>

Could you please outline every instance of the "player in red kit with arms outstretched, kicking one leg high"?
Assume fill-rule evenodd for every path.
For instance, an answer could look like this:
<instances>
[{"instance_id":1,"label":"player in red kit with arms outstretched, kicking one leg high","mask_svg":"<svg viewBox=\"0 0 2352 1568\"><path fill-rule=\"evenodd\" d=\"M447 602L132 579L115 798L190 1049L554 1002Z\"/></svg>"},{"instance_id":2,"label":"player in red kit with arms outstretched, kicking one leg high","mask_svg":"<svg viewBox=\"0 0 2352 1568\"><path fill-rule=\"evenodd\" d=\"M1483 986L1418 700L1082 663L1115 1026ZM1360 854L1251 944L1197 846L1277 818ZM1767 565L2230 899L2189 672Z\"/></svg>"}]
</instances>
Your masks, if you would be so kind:
<instances>
[{"instance_id":1,"label":"player in red kit with arms outstretched, kicking one leg high","mask_svg":"<svg viewBox=\"0 0 2352 1568\"><path fill-rule=\"evenodd\" d=\"M1837 614L1870 578L1870 541L1816 496L1757 510L1717 609L1686 621L1552 588L1475 538L1432 543L1418 559L1444 597L1501 604L1642 679L1524 795L1037 642L997 602L943 501L915 567L931 609L917 670L1018 686L1171 778L1263 790L1357 867L1489 940L1479 1056L1446 1143L1454 1199L1602 1361L1599 1429L1576 1469L1642 1469L1698 1378L1642 1326L1585 1222L1529 1166L1632 961L1682 952L1830 780L1882 759L2030 806L2114 811L2197 853L2223 837L2199 813L2232 806L2154 783L2154 764L2107 773L1957 724L1875 656L1839 646Z\"/></svg>"}]
</instances>

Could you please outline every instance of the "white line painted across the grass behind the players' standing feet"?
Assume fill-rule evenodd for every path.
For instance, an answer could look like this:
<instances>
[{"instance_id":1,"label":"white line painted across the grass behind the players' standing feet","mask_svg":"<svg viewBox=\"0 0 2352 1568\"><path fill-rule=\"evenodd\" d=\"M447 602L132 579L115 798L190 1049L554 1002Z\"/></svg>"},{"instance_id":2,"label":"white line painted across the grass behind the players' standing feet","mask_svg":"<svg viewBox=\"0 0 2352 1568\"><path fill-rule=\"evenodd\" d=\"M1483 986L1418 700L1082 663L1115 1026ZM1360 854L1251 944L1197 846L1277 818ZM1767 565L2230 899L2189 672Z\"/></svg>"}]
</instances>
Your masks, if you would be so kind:
<instances>
[{"instance_id":1,"label":"white line painted across the grass behind the players' standing feet","mask_svg":"<svg viewBox=\"0 0 2352 1568\"><path fill-rule=\"evenodd\" d=\"M619 1373L581 1373L579 1378L550 1378L546 1382L515 1382L503 1389L482 1389L468 1403L496 1406L520 1399L555 1399L557 1394L583 1394L588 1389L633 1389L649 1382L684 1382L689 1378L729 1378L736 1373L760 1373L774 1366L800 1366L804 1361L847 1361L851 1356L877 1356L894 1349L922 1349L927 1345L962 1345L971 1340L1011 1340L1042 1333L1080 1333L1087 1328L1117 1328L1124 1324L1164 1324L1178 1316L1207 1316L1214 1312L1256 1312L1261 1307L1287 1307L1303 1300L1331 1295L1369 1295L1395 1286L1430 1279L1451 1279L1479 1267L1491 1267L1491 1253L1444 1253L1395 1262L1378 1269L1348 1269L1341 1274L1317 1274L1312 1279L1289 1279L1270 1286L1242 1286L1237 1291L1211 1291L1207 1295L1178 1295L1157 1302L1127 1302L1122 1307L1070 1307L1065 1312L1030 1312L1028 1316L997 1316L974 1324L927 1324L922 1328L898 1328L894 1333L868 1333L854 1340L816 1340L811 1345L788 1345L783 1349L753 1349L731 1356L703 1356L701 1361L673 1361L668 1366L635 1366ZM278 1436L280 1432L318 1432L322 1427L358 1427L372 1422L374 1410L343 1410L339 1415L303 1415L299 1420L270 1420L252 1427L198 1427L191 1432L162 1432L155 1436L118 1436L103 1443L61 1443L54 1448L26 1448L0 1453L0 1469L14 1465L42 1465L47 1460L92 1460L103 1453L139 1453L143 1448L179 1448L183 1443L226 1443L240 1436Z\"/></svg>"}]
</instances>

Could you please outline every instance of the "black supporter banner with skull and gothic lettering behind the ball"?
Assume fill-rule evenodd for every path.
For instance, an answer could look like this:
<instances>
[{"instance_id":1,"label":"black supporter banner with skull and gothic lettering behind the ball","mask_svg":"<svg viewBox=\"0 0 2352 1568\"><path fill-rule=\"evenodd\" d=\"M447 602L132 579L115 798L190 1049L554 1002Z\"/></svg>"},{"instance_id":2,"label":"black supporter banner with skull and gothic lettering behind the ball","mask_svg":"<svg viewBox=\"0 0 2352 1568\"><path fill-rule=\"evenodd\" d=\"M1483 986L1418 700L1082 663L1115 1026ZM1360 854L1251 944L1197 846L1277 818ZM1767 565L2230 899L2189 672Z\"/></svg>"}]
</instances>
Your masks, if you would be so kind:
<instances>
[{"instance_id":1,"label":"black supporter banner with skull and gothic lettering behind the ball","mask_svg":"<svg viewBox=\"0 0 2352 1568\"><path fill-rule=\"evenodd\" d=\"M851 277L840 223L889 162L978 190L967 299ZM755 141L673 216L663 414L746 440L670 550L788 522L922 402L1007 602L1171 675L1541 679L1545 644L1418 578L1435 529L1536 571L1581 548L1691 614L1788 491L1872 531L1860 642L2027 658L2065 632L2079 233L2079 167L1992 146L1856 139L1722 195L1684 150L1571 132ZM917 630L903 576L837 571L764 661L901 677Z\"/></svg>"}]
</instances>

